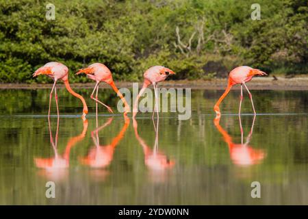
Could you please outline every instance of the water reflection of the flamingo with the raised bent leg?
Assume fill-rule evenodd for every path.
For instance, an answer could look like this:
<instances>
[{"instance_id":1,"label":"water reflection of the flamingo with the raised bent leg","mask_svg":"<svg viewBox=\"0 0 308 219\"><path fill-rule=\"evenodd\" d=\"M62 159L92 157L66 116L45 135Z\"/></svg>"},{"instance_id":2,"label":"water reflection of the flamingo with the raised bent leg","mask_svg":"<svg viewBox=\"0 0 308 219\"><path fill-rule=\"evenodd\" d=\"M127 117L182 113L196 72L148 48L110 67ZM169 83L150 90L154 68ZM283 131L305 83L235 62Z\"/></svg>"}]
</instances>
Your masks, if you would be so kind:
<instances>
[{"instance_id":1,"label":"water reflection of the flamingo with the raised bent leg","mask_svg":"<svg viewBox=\"0 0 308 219\"><path fill-rule=\"evenodd\" d=\"M114 149L116 149L118 142L120 142L120 140L123 138L127 127L129 127L129 118L125 115L124 119L125 123L123 125L123 128L118 133L118 136L116 136L108 145L102 146L99 144L99 131L110 125L112 123L112 118L107 120L104 125L102 125L101 127L97 127L97 129L91 132L94 146L92 147L92 149L90 149L86 157L81 157L79 159L81 164L91 166L92 168L105 168L106 166L110 165L114 156Z\"/></svg>"}]
</instances>

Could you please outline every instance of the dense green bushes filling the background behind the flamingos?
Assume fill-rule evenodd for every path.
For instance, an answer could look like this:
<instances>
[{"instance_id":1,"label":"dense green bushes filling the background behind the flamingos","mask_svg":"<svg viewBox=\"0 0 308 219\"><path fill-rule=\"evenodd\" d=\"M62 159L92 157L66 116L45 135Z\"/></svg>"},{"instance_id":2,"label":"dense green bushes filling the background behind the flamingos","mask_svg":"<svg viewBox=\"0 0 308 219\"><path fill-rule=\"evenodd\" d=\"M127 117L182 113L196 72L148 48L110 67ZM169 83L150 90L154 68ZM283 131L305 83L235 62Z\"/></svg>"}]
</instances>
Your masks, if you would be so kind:
<instances>
[{"instance_id":1,"label":"dense green bushes filling the background behind the flamingos","mask_svg":"<svg viewBox=\"0 0 308 219\"><path fill-rule=\"evenodd\" d=\"M55 20L45 18L47 3ZM0 0L0 82L38 81L39 66L106 64L117 80L138 80L146 68L165 65L174 79L225 76L249 65L268 73L307 73L305 0L33 1ZM180 41L179 41L180 40Z\"/></svg>"}]
</instances>

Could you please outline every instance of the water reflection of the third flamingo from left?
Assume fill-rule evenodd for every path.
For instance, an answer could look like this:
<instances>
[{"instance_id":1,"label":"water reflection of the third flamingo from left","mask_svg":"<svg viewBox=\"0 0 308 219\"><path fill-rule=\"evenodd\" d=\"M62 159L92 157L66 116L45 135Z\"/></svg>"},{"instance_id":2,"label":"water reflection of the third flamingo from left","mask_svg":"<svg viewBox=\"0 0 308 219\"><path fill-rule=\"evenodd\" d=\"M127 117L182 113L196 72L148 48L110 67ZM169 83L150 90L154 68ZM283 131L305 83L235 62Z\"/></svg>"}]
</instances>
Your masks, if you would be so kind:
<instances>
[{"instance_id":1,"label":"water reflection of the third flamingo from left","mask_svg":"<svg viewBox=\"0 0 308 219\"><path fill-rule=\"evenodd\" d=\"M135 136L138 142L141 144L144 153L144 163L151 170L165 170L166 168L172 168L175 165L173 160L170 160L164 153L158 151L158 125L159 119L157 119L157 124L155 126L153 120L153 126L155 129L155 144L152 150L146 142L138 134L138 123L135 118L133 118L133 129L135 131Z\"/></svg>"}]
</instances>

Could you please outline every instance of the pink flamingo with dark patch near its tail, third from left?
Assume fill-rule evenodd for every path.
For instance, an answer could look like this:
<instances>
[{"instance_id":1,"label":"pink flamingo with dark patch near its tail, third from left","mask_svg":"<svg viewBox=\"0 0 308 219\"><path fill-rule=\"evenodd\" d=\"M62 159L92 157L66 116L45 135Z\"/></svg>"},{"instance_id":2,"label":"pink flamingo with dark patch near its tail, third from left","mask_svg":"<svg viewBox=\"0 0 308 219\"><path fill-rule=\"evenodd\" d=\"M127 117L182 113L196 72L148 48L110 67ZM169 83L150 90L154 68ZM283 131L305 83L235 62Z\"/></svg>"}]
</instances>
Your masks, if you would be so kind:
<instances>
[{"instance_id":1,"label":"pink flamingo with dark patch near its tail, third from left","mask_svg":"<svg viewBox=\"0 0 308 219\"><path fill-rule=\"evenodd\" d=\"M158 117L158 94L157 94L157 83L166 80L166 78L169 75L175 75L175 73L170 70L169 68L165 68L164 66L152 66L148 70L145 71L143 77L144 82L143 86L137 96L137 99L133 105L133 118L136 117L136 114L138 112L137 105L138 105L138 99L143 94L144 90L152 83L154 88L154 94L155 94L155 106L156 106L156 112ZM154 116L154 110L153 115Z\"/></svg>"}]
</instances>

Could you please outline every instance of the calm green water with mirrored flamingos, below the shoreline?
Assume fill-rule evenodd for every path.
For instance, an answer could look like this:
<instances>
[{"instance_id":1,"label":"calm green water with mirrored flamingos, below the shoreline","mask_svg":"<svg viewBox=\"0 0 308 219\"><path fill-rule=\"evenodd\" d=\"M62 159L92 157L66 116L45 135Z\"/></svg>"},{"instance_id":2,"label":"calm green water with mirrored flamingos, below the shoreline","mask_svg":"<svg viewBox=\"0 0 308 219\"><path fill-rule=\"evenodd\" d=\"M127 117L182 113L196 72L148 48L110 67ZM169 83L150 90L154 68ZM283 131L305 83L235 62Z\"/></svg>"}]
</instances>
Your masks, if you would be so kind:
<instances>
[{"instance_id":1,"label":"calm green water with mirrored flamingos, below the shoreline","mask_svg":"<svg viewBox=\"0 0 308 219\"><path fill-rule=\"evenodd\" d=\"M0 204L308 205L308 92L253 90L259 114L253 125L245 96L243 138L238 90L214 123L221 93L192 90L192 118L161 113L156 132L151 114L133 123L99 106L96 120L90 97L83 122L79 100L60 89L56 135L57 118L46 116L49 90L0 90ZM116 111L111 90L99 99ZM47 181L55 198L45 197ZM261 198L251 198L253 181Z\"/></svg>"}]
</instances>

